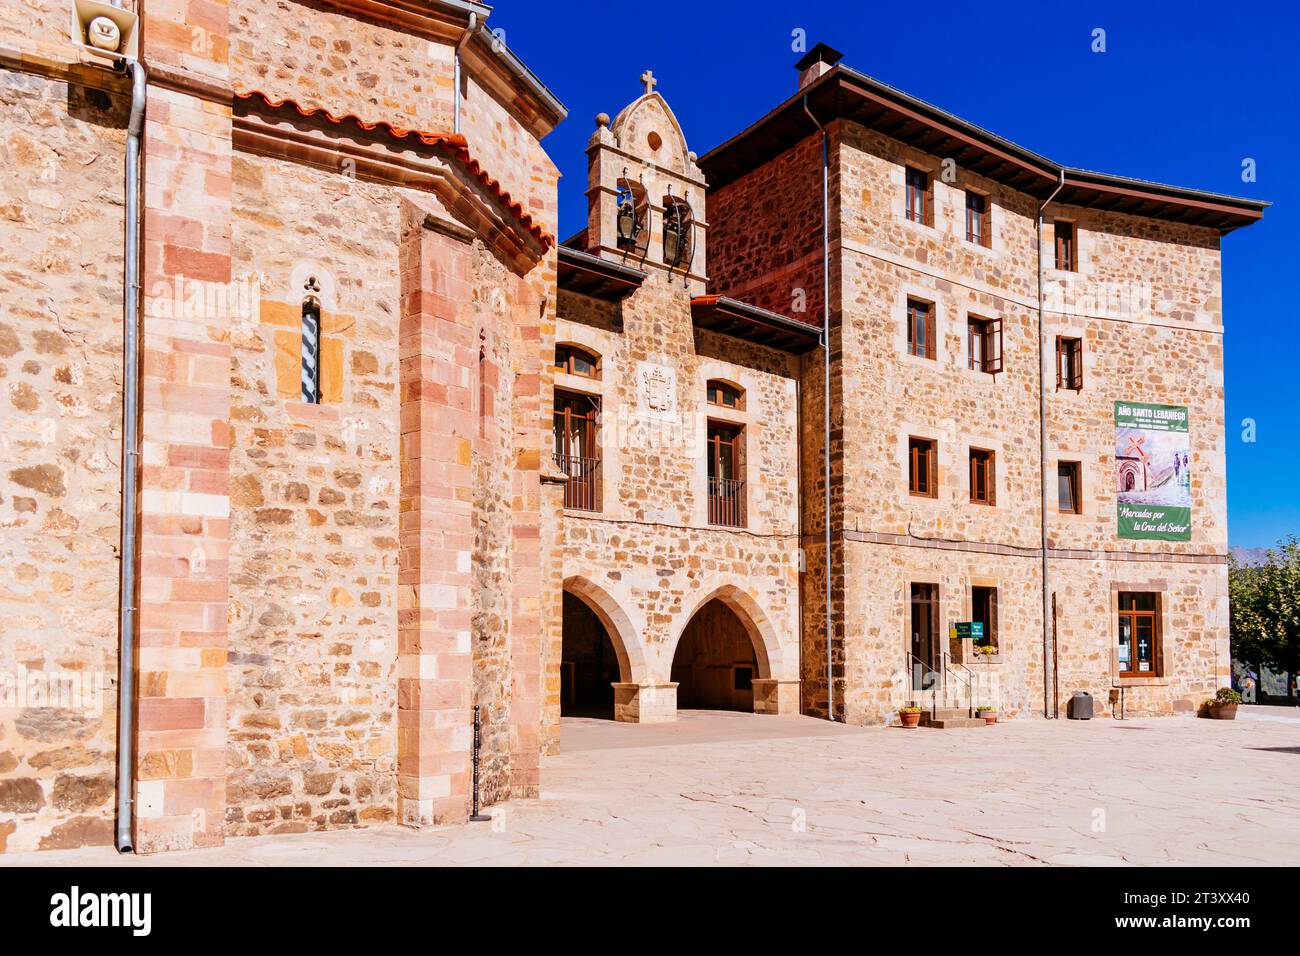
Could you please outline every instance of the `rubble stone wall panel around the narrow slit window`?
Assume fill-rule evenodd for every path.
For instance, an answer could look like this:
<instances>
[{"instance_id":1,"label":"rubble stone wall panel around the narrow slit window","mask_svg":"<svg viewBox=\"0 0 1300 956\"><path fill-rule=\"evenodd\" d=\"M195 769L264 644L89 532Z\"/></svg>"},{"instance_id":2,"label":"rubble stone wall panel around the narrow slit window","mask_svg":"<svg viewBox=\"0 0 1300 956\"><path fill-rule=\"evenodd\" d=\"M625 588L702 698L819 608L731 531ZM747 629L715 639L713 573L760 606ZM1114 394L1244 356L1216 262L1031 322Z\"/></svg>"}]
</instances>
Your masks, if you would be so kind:
<instances>
[{"instance_id":1,"label":"rubble stone wall panel around the narrow slit window","mask_svg":"<svg viewBox=\"0 0 1300 956\"><path fill-rule=\"evenodd\" d=\"M395 792L398 216L380 186L237 156L228 831L387 821ZM286 237L292 237L286 242ZM321 287L320 405L300 401Z\"/></svg>"}]
</instances>

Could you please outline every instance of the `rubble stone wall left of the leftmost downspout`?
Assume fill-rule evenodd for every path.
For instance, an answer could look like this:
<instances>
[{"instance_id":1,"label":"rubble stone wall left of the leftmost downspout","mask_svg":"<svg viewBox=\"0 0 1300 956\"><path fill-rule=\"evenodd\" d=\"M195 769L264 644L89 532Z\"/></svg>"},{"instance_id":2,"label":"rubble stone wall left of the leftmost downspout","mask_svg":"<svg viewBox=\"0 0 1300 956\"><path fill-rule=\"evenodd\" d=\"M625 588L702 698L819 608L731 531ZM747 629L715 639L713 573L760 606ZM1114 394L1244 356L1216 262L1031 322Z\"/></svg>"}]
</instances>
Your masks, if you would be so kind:
<instances>
[{"instance_id":1,"label":"rubble stone wall left of the leftmost downspout","mask_svg":"<svg viewBox=\"0 0 1300 956\"><path fill-rule=\"evenodd\" d=\"M0 70L0 852L112 842L129 105Z\"/></svg>"}]
</instances>

